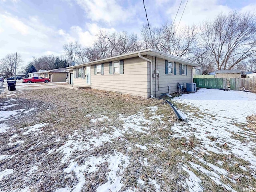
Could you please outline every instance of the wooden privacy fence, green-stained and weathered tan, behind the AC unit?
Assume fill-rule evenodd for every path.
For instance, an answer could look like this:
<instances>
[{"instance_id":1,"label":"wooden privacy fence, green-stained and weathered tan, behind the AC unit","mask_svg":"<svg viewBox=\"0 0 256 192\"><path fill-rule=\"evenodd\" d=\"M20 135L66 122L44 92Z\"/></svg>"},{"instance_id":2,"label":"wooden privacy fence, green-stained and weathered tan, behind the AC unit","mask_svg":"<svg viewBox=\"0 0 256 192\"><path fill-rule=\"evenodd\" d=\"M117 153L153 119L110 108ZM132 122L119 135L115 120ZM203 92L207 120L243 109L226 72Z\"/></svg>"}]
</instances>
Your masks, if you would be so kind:
<instances>
[{"instance_id":1,"label":"wooden privacy fence, green-stained and weathered tan, behind the AC unit","mask_svg":"<svg viewBox=\"0 0 256 192\"><path fill-rule=\"evenodd\" d=\"M256 78L194 78L198 88L225 89L227 90L250 90L256 86Z\"/></svg>"}]
</instances>

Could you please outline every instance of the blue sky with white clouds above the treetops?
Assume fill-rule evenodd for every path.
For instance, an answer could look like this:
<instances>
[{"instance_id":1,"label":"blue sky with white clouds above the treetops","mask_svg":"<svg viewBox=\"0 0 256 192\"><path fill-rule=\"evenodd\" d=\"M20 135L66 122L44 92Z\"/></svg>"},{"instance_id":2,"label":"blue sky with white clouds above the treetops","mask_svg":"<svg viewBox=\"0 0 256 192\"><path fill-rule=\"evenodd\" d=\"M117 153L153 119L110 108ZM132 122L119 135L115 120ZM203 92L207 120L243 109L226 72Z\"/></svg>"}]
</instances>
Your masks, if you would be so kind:
<instances>
[{"instance_id":1,"label":"blue sky with white clouds above the treetops","mask_svg":"<svg viewBox=\"0 0 256 192\"><path fill-rule=\"evenodd\" d=\"M152 26L172 21L181 0L145 0ZM182 1L176 22L186 4ZM188 0L181 24L197 24L220 12L256 10L255 0ZM0 58L63 54L63 44L90 46L100 29L140 34L146 24L143 0L0 0Z\"/></svg>"}]
</instances>

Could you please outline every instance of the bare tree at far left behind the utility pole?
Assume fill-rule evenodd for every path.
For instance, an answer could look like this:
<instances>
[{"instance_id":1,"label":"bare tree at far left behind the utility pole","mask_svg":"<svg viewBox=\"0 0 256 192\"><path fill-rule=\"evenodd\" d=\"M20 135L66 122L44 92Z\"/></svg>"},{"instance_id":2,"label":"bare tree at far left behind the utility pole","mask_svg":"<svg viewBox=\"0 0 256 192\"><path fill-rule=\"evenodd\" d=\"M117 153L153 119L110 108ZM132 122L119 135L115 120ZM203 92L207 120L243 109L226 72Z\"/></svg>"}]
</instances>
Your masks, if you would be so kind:
<instances>
[{"instance_id":1,"label":"bare tree at far left behind the utility pole","mask_svg":"<svg viewBox=\"0 0 256 192\"><path fill-rule=\"evenodd\" d=\"M22 56L17 54L17 65L22 63ZM0 60L0 72L6 76L13 76L14 75L14 68L15 68L15 53L7 54L4 58Z\"/></svg>"}]
</instances>

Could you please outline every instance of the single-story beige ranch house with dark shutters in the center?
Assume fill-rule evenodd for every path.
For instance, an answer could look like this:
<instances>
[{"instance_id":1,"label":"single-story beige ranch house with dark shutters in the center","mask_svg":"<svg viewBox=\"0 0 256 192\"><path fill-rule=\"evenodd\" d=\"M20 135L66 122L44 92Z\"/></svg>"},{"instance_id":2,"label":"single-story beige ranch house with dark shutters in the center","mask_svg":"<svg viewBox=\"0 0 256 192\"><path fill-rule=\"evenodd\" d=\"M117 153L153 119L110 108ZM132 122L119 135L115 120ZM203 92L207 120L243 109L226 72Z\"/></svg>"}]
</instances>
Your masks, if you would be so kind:
<instances>
[{"instance_id":1,"label":"single-story beige ranch house with dark shutters in the center","mask_svg":"<svg viewBox=\"0 0 256 192\"><path fill-rule=\"evenodd\" d=\"M177 92L178 83L192 82L195 62L153 49L145 49L68 67L73 85L158 97Z\"/></svg>"}]
</instances>

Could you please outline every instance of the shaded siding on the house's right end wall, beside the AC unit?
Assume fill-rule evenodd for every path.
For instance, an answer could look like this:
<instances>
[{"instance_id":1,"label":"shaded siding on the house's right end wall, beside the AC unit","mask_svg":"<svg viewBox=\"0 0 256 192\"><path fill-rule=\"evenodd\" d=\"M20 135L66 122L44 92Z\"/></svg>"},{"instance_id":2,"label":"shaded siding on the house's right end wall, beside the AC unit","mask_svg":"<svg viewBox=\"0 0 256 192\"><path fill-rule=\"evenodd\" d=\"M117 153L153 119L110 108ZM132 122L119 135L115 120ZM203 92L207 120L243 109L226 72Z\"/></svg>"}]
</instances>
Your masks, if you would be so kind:
<instances>
[{"instance_id":1,"label":"shaded siding on the house's right end wall, beside the AC unit","mask_svg":"<svg viewBox=\"0 0 256 192\"><path fill-rule=\"evenodd\" d=\"M153 78L153 96L159 97L161 94L168 93L168 86L171 86L170 93L177 92L178 83L192 82L192 66L187 66L188 75L180 75L180 66L176 62L176 75L165 74L165 60L162 58L156 58L156 68L155 68L155 57L148 56L148 59L153 62L153 73L155 69L159 71L159 90L158 90L158 79ZM170 60L169 60L170 61ZM148 66L148 85L150 85L150 67ZM148 86L148 97L150 96L150 86Z\"/></svg>"}]
</instances>

